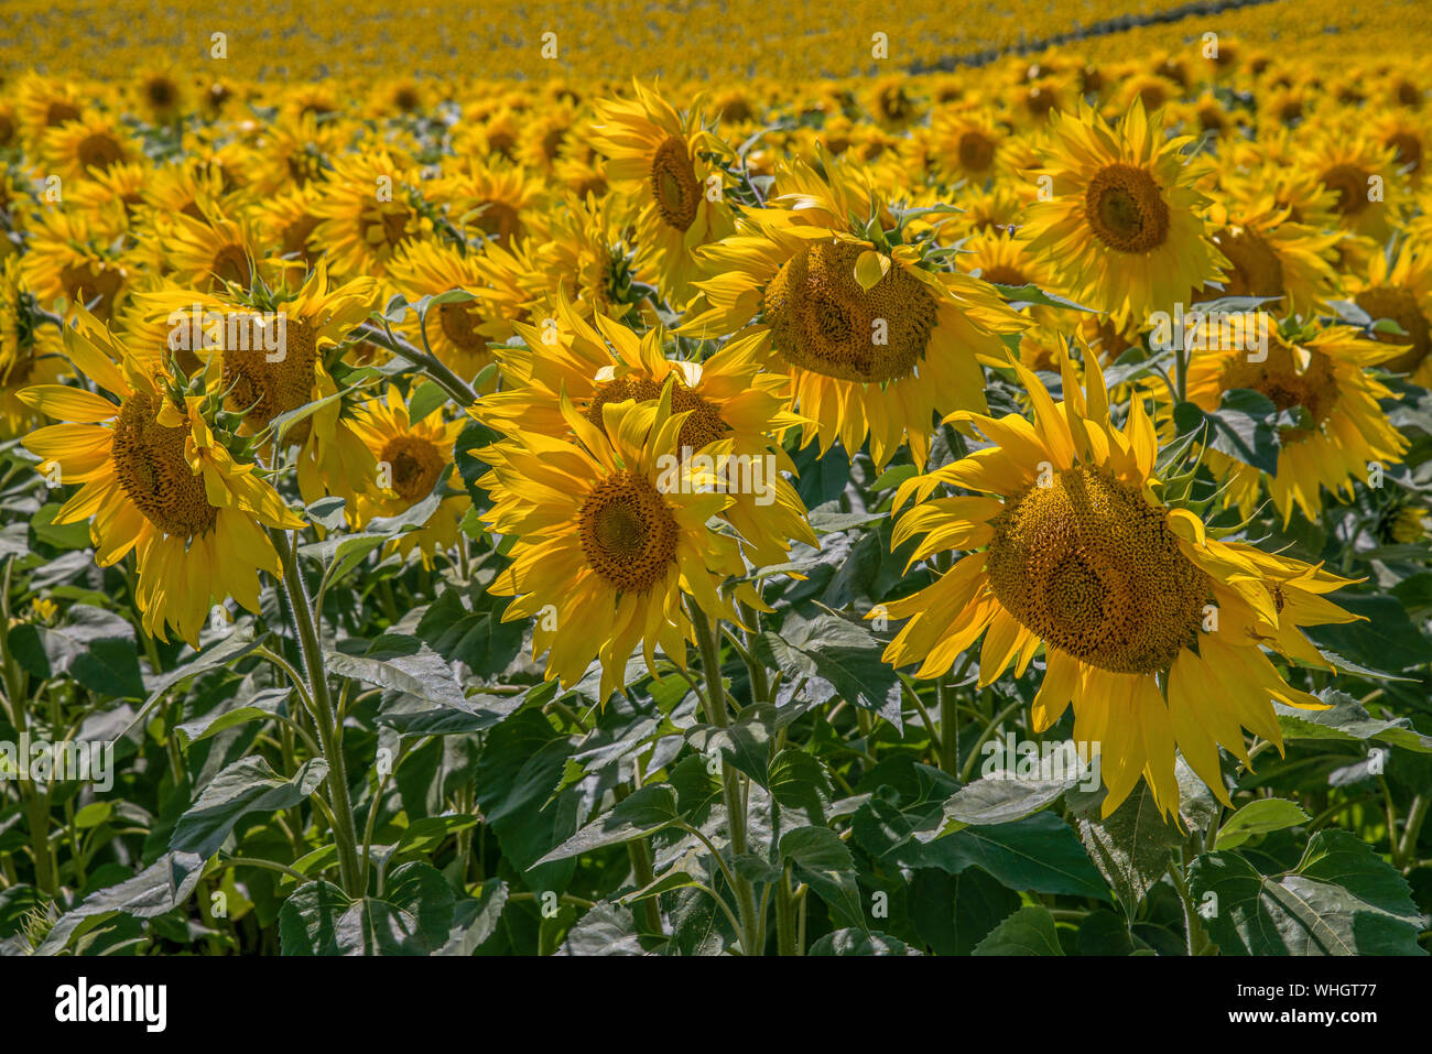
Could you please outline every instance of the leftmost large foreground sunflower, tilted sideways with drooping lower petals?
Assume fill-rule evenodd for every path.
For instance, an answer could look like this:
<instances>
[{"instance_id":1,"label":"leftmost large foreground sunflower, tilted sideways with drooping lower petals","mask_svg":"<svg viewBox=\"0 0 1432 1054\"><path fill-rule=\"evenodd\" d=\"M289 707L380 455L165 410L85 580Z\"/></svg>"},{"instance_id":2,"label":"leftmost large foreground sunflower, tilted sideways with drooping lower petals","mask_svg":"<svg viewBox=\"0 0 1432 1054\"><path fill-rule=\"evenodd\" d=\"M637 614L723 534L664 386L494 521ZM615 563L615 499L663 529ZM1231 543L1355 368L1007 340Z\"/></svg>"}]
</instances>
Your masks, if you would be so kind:
<instances>
[{"instance_id":1,"label":"leftmost large foreground sunflower, tilted sideways with drooping lower petals","mask_svg":"<svg viewBox=\"0 0 1432 1054\"><path fill-rule=\"evenodd\" d=\"M21 398L62 421L27 435L33 454L83 484L56 523L90 520L102 566L136 554L145 632L173 629L195 649L211 603L233 597L259 613L258 571L279 576L265 527L302 528L278 493L239 464L212 424L215 405L183 378L146 368L87 311L66 328L76 368L117 402L83 388L36 385Z\"/></svg>"}]
</instances>

